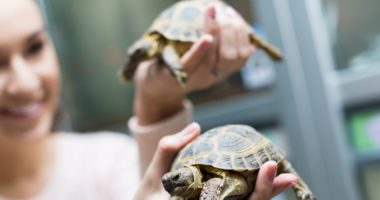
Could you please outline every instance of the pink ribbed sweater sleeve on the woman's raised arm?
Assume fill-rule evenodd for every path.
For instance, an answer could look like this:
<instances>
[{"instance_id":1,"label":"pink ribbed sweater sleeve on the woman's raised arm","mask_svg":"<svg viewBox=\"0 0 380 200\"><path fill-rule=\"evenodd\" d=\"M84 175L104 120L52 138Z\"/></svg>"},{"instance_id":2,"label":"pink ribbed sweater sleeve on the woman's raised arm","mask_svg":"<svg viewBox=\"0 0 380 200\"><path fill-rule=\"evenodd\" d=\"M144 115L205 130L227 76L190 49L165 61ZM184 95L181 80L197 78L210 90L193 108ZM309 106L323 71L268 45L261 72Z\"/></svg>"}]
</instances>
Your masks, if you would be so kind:
<instances>
[{"instance_id":1,"label":"pink ribbed sweater sleeve on the woman's raised arm","mask_svg":"<svg viewBox=\"0 0 380 200\"><path fill-rule=\"evenodd\" d=\"M183 102L184 109L154 124L140 126L139 119L133 116L128 121L128 128L135 137L139 148L140 175L144 175L157 148L158 141L165 135L182 131L193 121L193 105L189 100Z\"/></svg>"}]
</instances>

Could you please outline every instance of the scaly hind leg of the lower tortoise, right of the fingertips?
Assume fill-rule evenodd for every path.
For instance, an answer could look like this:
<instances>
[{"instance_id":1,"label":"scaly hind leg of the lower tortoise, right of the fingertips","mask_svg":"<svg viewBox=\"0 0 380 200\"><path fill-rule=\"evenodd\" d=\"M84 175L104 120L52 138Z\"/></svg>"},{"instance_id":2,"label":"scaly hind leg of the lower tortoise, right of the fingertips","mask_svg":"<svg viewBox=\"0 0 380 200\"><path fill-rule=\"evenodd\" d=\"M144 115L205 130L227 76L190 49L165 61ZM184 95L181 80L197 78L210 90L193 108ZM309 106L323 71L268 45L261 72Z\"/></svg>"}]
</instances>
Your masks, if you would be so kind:
<instances>
[{"instance_id":1,"label":"scaly hind leg of the lower tortoise, right of the fingertips","mask_svg":"<svg viewBox=\"0 0 380 200\"><path fill-rule=\"evenodd\" d=\"M316 200L314 197L313 193L310 191L309 187L307 187L306 183L301 179L301 177L298 175L296 170L291 166L290 162L287 160L283 159L278 167L277 167L277 172L278 174L281 173L292 173L296 175L297 177L297 184L293 186L293 191L297 196L297 199L311 199L311 200Z\"/></svg>"}]
</instances>

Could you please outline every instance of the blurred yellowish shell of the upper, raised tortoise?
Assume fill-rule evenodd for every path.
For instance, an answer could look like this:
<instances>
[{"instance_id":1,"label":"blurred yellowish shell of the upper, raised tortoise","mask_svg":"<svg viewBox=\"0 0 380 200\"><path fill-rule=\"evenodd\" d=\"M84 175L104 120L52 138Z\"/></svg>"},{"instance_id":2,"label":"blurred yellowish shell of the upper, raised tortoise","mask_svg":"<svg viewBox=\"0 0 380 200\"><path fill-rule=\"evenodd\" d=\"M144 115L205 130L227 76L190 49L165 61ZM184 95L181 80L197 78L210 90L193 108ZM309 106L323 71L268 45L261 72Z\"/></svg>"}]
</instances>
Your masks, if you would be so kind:
<instances>
[{"instance_id":1,"label":"blurred yellowish shell of the upper, raised tortoise","mask_svg":"<svg viewBox=\"0 0 380 200\"><path fill-rule=\"evenodd\" d=\"M220 0L179 1L162 11L145 35L158 32L169 40L194 43L201 36L207 5L229 6ZM249 24L247 32L253 34Z\"/></svg>"}]
</instances>

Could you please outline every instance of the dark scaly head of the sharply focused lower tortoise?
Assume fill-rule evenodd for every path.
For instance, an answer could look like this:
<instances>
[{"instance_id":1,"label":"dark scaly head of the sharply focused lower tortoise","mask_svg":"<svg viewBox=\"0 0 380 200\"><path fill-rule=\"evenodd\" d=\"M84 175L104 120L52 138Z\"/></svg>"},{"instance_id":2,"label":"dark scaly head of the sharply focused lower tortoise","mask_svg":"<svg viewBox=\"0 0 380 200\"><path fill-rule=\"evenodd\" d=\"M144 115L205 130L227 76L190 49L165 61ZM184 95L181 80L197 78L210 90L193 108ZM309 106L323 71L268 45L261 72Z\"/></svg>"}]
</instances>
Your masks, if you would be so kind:
<instances>
[{"instance_id":1,"label":"dark scaly head of the sharply focused lower tortoise","mask_svg":"<svg viewBox=\"0 0 380 200\"><path fill-rule=\"evenodd\" d=\"M189 167L182 167L162 177L162 184L170 195L189 197L193 191L198 190L197 185L201 184L201 177L194 176ZM192 168L199 172L198 168Z\"/></svg>"}]
</instances>

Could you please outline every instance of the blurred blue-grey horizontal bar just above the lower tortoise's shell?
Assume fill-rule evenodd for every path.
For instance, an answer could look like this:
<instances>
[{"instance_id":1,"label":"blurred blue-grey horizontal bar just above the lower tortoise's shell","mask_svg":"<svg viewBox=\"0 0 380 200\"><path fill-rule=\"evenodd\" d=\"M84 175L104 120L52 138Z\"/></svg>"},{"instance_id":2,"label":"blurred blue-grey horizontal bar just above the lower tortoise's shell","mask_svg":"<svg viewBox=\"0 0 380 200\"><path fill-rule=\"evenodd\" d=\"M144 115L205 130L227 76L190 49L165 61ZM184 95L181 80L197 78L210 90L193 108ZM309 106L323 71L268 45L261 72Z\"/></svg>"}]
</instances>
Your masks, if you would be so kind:
<instances>
[{"instance_id":1,"label":"blurred blue-grey horizontal bar just above the lower tortoise's shell","mask_svg":"<svg viewBox=\"0 0 380 200\"><path fill-rule=\"evenodd\" d=\"M272 90L234 95L194 107L194 120L203 131L225 124L272 124L278 116Z\"/></svg>"}]
</instances>

